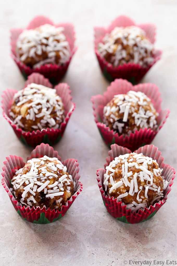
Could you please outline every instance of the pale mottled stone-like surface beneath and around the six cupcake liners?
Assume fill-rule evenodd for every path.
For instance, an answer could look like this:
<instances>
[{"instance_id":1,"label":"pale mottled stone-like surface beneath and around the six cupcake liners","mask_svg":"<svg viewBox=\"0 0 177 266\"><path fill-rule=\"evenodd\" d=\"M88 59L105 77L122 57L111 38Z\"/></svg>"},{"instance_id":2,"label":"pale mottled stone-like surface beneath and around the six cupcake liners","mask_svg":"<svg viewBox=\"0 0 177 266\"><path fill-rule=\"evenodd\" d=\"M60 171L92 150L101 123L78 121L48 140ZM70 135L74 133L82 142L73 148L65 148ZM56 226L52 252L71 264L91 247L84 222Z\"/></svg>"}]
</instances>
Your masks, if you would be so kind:
<instances>
[{"instance_id":1,"label":"pale mottled stone-like surface beneath and around the six cupcake liners","mask_svg":"<svg viewBox=\"0 0 177 266\"><path fill-rule=\"evenodd\" d=\"M159 86L162 107L170 109L167 122L153 144L167 164L176 168L177 98L177 1L47 1L12 0L0 3L0 90L21 89L24 79L10 57L10 29L26 27L36 15L54 23L72 22L76 31L75 53L62 81L72 90L76 109L62 140L54 146L62 159L76 158L80 164L83 192L59 221L37 225L24 221L14 210L0 185L1 265L123 265L125 260L177 260L176 188L174 180L168 200L158 213L141 224L125 224L107 213L96 181L96 169L103 168L108 148L101 139L92 114L92 95L103 94L109 82L102 76L93 49L93 27L108 26L118 15L137 23L157 26L156 48L163 56L142 82ZM0 167L12 154L26 160L32 148L16 138L0 117ZM151 264L151 265L152 265ZM166 261L165 264L166 265Z\"/></svg>"}]
</instances>

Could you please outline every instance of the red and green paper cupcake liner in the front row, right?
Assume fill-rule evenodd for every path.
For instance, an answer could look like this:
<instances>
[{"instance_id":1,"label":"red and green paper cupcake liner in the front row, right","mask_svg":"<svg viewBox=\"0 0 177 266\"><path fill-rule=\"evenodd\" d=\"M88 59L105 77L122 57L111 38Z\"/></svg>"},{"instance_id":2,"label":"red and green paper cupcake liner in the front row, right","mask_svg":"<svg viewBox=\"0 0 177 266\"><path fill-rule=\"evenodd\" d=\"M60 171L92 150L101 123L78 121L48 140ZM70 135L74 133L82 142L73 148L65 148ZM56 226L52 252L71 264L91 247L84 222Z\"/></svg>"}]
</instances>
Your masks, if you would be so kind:
<instances>
[{"instance_id":1,"label":"red and green paper cupcake liner in the front row, right","mask_svg":"<svg viewBox=\"0 0 177 266\"><path fill-rule=\"evenodd\" d=\"M154 214L160 209L160 207L167 201L167 195L171 191L171 185L173 184L173 179L175 178L175 169L169 164L163 163L163 157L161 156L161 152L158 151L158 148L154 145L146 145L144 147L139 148L137 153L143 153L145 156L152 157L154 160L157 160L160 168L163 168L162 176L165 177L165 180L169 182L167 188L164 191L163 198L154 205L150 205L148 208L145 207L144 210L139 210L136 212L131 212L131 209L126 209L126 205L122 205L122 201L117 202L117 199L114 197L107 196L105 189L103 188L103 178L106 172L105 169L97 170L97 181L98 186L100 188L101 196L104 202L104 205L107 211L117 220L125 222L125 223L141 223L149 218L153 217ZM106 158L106 164L104 167L108 166L111 161L114 160L115 157L119 155L123 155L125 153L131 153L131 151L122 146L118 146L117 144L111 145L111 150L108 152L109 156Z\"/></svg>"}]
</instances>

